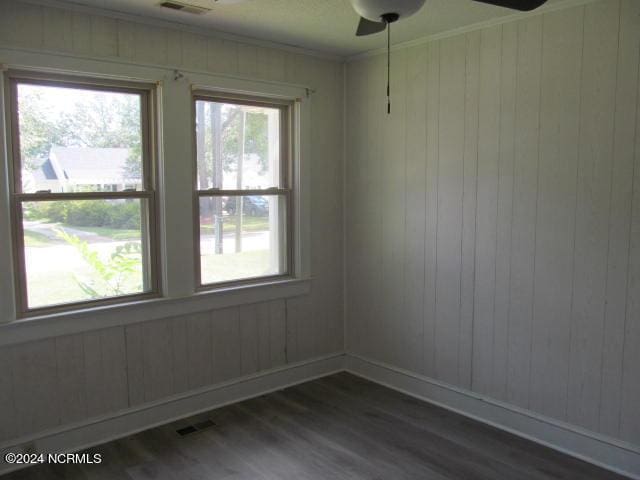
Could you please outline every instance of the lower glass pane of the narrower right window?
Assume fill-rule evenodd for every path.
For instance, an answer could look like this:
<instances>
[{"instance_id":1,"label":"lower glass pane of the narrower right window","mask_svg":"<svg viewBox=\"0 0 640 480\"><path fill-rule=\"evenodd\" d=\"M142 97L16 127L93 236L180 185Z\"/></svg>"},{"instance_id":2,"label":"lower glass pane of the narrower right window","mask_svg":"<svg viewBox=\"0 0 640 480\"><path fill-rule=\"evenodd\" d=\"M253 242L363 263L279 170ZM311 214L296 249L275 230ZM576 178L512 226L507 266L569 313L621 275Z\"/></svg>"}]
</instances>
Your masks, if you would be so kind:
<instances>
[{"instance_id":1,"label":"lower glass pane of the narrower right window","mask_svg":"<svg viewBox=\"0 0 640 480\"><path fill-rule=\"evenodd\" d=\"M287 272L286 197L200 199L203 284Z\"/></svg>"}]
</instances>

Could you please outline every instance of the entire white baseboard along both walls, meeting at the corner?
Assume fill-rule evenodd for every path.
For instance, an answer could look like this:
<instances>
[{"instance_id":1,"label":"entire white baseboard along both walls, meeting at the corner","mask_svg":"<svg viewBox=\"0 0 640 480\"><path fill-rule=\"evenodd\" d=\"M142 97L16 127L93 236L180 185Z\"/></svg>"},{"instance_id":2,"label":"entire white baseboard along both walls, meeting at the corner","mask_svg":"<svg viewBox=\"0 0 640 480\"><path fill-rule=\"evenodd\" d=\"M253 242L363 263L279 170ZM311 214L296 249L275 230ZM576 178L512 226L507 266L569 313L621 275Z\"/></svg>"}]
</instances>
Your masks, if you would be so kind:
<instances>
[{"instance_id":1,"label":"entire white baseboard along both walls, meeting at the corner","mask_svg":"<svg viewBox=\"0 0 640 480\"><path fill-rule=\"evenodd\" d=\"M640 480L640 449L572 425L503 404L355 355L336 354L249 375L89 421L0 444L0 475L21 466L4 463L6 452L72 452L122 438L180 418L256 397L315 378L348 371L480 422Z\"/></svg>"}]
</instances>

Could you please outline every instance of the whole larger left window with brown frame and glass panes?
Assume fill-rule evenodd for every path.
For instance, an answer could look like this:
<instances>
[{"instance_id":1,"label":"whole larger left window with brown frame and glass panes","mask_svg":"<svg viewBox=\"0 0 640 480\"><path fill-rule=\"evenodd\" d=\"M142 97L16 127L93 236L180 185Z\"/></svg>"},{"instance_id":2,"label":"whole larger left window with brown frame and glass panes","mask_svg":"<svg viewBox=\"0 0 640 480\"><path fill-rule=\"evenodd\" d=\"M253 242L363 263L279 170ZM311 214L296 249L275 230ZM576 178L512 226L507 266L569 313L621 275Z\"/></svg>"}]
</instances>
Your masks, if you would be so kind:
<instances>
[{"instance_id":1,"label":"whole larger left window with brown frame and glass panes","mask_svg":"<svg viewBox=\"0 0 640 480\"><path fill-rule=\"evenodd\" d=\"M19 314L156 294L153 87L8 77Z\"/></svg>"}]
</instances>

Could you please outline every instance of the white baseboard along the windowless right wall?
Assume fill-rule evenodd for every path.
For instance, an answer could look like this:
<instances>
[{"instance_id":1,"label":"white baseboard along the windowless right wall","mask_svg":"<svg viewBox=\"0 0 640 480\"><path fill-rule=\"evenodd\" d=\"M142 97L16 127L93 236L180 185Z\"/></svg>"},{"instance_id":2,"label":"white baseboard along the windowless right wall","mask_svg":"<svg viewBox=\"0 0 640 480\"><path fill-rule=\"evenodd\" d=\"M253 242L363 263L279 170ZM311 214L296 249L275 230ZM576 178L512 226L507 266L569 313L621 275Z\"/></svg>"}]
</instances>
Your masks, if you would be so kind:
<instances>
[{"instance_id":1,"label":"white baseboard along the windowless right wall","mask_svg":"<svg viewBox=\"0 0 640 480\"><path fill-rule=\"evenodd\" d=\"M380 385L640 480L640 449L634 445L357 355L347 354L345 369Z\"/></svg>"}]
</instances>

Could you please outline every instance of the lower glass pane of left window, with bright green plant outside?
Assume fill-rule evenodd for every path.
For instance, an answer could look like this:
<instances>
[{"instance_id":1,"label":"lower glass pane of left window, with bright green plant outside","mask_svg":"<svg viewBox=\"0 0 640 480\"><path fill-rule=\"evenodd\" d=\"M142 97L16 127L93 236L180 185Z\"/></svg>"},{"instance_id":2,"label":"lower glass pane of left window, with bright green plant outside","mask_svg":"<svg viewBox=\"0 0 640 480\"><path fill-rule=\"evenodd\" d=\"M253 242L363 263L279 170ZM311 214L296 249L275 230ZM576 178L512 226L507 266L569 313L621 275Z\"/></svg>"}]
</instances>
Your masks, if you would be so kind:
<instances>
[{"instance_id":1,"label":"lower glass pane of left window, with bright green plant outside","mask_svg":"<svg viewBox=\"0 0 640 480\"><path fill-rule=\"evenodd\" d=\"M29 308L148 291L144 202L23 203Z\"/></svg>"}]
</instances>

